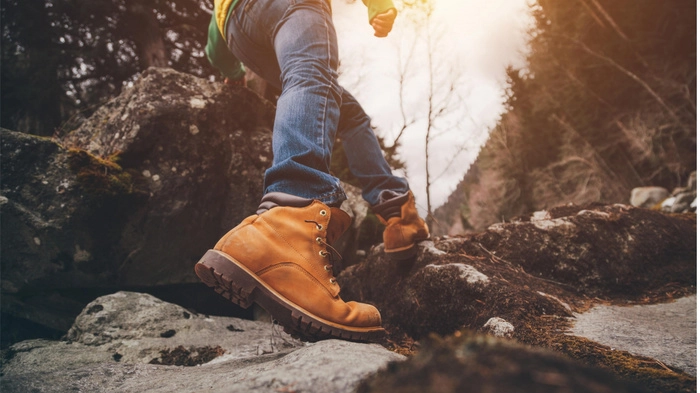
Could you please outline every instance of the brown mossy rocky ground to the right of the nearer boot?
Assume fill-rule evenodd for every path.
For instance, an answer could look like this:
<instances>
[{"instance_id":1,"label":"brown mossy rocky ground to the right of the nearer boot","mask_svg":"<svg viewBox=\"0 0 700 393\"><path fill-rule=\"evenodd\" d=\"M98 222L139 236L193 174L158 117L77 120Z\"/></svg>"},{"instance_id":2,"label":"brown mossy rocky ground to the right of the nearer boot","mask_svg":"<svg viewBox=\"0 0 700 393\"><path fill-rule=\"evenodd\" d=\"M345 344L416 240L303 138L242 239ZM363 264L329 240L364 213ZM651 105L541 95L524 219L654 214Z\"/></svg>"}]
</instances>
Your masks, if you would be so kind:
<instances>
[{"instance_id":1,"label":"brown mossy rocky ground to the right of the nearer boot","mask_svg":"<svg viewBox=\"0 0 700 393\"><path fill-rule=\"evenodd\" d=\"M563 353L652 391L695 391L695 371L672 352L694 352L694 337L666 348L676 359L668 365L640 356L651 353L634 355L624 346L571 334L576 316L587 317L594 306L667 303L695 294L695 214L563 206L481 233L426 242L421 251L412 264L397 264L377 247L339 277L341 295L377 304L391 332L389 347L410 354L417 338L467 328ZM692 334L695 303L689 307L693 311L676 313L675 321ZM642 325L649 315L638 314L631 325Z\"/></svg>"}]
</instances>

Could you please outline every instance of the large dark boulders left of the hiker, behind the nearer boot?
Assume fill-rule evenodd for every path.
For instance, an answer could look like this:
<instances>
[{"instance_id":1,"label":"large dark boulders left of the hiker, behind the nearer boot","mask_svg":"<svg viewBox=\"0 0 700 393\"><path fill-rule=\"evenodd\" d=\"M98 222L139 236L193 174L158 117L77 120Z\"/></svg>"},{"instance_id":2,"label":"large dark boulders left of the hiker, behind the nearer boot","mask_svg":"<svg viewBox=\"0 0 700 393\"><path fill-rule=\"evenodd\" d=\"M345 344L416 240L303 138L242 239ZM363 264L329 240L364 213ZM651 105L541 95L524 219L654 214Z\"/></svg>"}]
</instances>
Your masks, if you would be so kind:
<instances>
[{"instance_id":1,"label":"large dark boulders left of the hiker, behind the nearer boot","mask_svg":"<svg viewBox=\"0 0 700 393\"><path fill-rule=\"evenodd\" d=\"M83 291L199 283L197 260L257 209L273 119L248 89L152 68L57 140L1 130L3 343L65 333Z\"/></svg>"}]
</instances>

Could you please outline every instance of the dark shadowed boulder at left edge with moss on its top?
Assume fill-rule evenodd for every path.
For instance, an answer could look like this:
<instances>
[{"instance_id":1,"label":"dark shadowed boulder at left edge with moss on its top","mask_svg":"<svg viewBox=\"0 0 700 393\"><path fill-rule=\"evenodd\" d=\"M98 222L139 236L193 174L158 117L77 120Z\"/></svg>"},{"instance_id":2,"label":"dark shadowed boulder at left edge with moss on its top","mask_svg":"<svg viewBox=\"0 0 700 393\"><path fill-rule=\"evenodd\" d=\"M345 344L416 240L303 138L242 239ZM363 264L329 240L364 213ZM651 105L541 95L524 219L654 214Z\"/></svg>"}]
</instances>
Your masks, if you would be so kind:
<instances>
[{"instance_id":1,"label":"dark shadowed boulder at left edge with moss on its top","mask_svg":"<svg viewBox=\"0 0 700 393\"><path fill-rule=\"evenodd\" d=\"M109 160L49 139L0 130L0 275L3 344L27 333L62 334L84 303L60 292L118 281L120 231L147 197Z\"/></svg>"}]
</instances>

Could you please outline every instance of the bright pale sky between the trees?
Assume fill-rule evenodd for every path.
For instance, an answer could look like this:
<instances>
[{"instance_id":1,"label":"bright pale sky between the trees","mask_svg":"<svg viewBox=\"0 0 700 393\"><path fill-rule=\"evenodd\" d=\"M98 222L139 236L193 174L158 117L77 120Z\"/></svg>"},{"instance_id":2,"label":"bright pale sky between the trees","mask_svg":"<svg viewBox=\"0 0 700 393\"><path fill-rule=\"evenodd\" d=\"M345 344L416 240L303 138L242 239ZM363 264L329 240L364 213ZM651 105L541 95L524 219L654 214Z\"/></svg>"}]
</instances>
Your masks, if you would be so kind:
<instances>
[{"instance_id":1,"label":"bright pale sky between the trees","mask_svg":"<svg viewBox=\"0 0 700 393\"><path fill-rule=\"evenodd\" d=\"M396 1L396 0L395 0ZM521 66L530 22L528 0L436 0L434 21L445 33L435 63L458 72L441 72L458 79L456 92L463 105L456 109L449 130L430 142L433 209L442 205L476 158L488 131L503 111L505 67ZM355 95L372 118L377 133L388 139L402 124L398 90L398 48L416 28L401 15L388 38L373 36L361 1L333 0L333 18L340 50L340 83ZM419 212L426 213L425 116L428 66L425 53L415 57L412 82L405 93L407 107L418 117L409 128L399 153L416 195ZM422 119L421 119L422 117ZM460 152L461 151L461 152ZM456 159L452 159L455 157ZM452 164L448 164L452 161ZM447 168L447 169L446 169Z\"/></svg>"}]
</instances>

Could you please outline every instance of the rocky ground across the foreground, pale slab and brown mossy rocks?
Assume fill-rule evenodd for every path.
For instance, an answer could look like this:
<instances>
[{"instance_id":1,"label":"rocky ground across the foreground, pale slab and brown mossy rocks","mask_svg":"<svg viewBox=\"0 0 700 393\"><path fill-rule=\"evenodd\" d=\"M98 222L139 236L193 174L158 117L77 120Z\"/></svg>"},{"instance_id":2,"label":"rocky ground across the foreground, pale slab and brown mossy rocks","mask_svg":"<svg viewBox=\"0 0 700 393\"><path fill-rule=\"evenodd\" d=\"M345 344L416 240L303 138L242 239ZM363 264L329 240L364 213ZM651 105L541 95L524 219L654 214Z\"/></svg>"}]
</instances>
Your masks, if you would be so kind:
<instances>
[{"instance_id":1,"label":"rocky ground across the foreground, pale slab and brown mossy rocks","mask_svg":"<svg viewBox=\"0 0 700 393\"><path fill-rule=\"evenodd\" d=\"M378 246L339 279L382 311L381 346L304 344L119 292L64 340L4 350L2 390L693 392L694 230L690 214L569 206L421 243L409 265Z\"/></svg>"}]
</instances>

